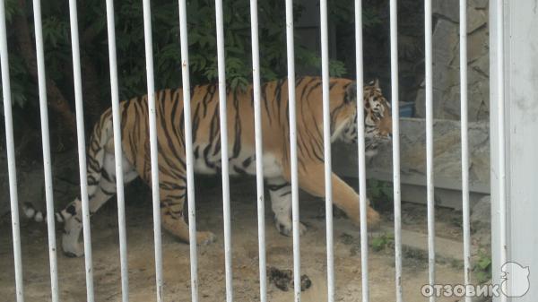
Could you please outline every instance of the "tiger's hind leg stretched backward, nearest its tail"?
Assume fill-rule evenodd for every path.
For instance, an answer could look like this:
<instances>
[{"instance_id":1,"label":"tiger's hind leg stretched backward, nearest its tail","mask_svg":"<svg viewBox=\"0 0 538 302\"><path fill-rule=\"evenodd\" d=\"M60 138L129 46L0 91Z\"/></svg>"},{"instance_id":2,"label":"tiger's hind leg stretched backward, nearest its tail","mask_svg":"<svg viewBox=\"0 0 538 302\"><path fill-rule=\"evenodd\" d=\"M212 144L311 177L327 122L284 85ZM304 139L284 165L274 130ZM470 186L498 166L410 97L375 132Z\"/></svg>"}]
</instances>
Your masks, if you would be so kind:
<instances>
[{"instance_id":1,"label":"tiger's hind leg stretched backward, nearest its tail","mask_svg":"<svg viewBox=\"0 0 538 302\"><path fill-rule=\"evenodd\" d=\"M131 182L138 176L133 166L123 159L124 182ZM114 155L106 153L101 169L99 184L92 184L89 177L88 198L90 214L98 211L110 197L116 194L116 168ZM64 223L64 234L62 236L62 248L65 255L80 257L84 255L84 248L79 242L82 231L82 202L76 198L69 203L64 210L56 213L56 220Z\"/></svg>"}]
</instances>

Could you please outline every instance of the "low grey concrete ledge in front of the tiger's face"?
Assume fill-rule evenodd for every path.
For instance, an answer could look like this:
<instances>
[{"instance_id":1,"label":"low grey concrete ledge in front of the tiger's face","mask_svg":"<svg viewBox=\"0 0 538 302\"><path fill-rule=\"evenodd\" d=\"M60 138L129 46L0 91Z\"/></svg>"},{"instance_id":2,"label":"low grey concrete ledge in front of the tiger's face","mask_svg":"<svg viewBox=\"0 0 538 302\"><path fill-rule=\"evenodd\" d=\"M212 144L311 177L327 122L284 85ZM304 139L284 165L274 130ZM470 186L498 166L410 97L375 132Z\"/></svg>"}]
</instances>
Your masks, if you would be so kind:
<instances>
[{"instance_id":1,"label":"low grey concrete ledge in front of the tiger's face","mask_svg":"<svg viewBox=\"0 0 538 302\"><path fill-rule=\"evenodd\" d=\"M426 203L426 125L422 118L400 119L400 157L402 199ZM460 123L434 121L435 199L440 206L461 209L461 136ZM469 124L470 200L476 203L490 194L490 134L483 122ZM337 143L333 152L334 172L343 177L357 177L357 145ZM392 144L380 147L377 155L367 159L367 178L392 182Z\"/></svg>"}]
</instances>

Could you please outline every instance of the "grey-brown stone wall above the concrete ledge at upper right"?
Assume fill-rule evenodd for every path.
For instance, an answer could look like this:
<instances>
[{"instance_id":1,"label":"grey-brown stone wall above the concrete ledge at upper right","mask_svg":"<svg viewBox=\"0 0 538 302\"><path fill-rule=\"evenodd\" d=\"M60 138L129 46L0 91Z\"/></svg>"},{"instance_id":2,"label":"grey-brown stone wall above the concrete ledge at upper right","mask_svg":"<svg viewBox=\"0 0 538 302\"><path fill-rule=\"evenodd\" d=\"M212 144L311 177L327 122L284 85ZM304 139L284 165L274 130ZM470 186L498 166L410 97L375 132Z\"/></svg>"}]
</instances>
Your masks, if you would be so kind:
<instances>
[{"instance_id":1,"label":"grey-brown stone wall above the concrete ledge at upper right","mask_svg":"<svg viewBox=\"0 0 538 302\"><path fill-rule=\"evenodd\" d=\"M459 1L434 0L433 114L434 118L460 118ZM488 1L467 3L467 65L469 120L487 120L489 108ZM424 117L424 83L417 93L415 114Z\"/></svg>"}]
</instances>

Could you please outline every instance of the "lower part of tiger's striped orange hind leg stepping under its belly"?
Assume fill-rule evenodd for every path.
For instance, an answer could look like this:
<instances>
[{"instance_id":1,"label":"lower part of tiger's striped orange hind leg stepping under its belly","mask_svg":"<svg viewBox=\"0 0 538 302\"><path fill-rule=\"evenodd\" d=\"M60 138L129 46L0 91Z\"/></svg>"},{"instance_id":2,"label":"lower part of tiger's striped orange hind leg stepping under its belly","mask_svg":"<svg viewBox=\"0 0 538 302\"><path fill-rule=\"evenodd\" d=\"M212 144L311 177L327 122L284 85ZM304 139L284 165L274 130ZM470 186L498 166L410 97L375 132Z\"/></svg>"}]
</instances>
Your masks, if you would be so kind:
<instances>
[{"instance_id":1,"label":"lower part of tiger's striped orange hind leg stepping under its belly","mask_svg":"<svg viewBox=\"0 0 538 302\"><path fill-rule=\"evenodd\" d=\"M162 173L161 173L162 175ZM187 186L183 180L167 182L161 179L161 226L169 234L179 240L190 243L187 217L183 211ZM196 231L196 243L198 245L208 245L215 241L215 236L209 231Z\"/></svg>"}]
</instances>

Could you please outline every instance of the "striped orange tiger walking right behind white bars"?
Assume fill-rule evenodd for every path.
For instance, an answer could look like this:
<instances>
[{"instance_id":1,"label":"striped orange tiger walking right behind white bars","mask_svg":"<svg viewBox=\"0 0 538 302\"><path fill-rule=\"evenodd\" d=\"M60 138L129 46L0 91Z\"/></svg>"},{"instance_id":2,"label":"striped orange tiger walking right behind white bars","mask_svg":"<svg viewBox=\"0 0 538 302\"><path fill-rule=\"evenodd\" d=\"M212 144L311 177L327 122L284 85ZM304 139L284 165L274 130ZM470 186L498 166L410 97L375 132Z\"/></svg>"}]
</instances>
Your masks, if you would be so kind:
<instances>
[{"instance_id":1,"label":"striped orange tiger walking right behind white bars","mask_svg":"<svg viewBox=\"0 0 538 302\"><path fill-rule=\"evenodd\" d=\"M274 225L284 236L291 236L291 158L289 98L287 79L265 82L261 86L263 133L263 176L268 188ZM297 110L297 153L299 187L317 197L325 196L322 80L300 77L295 82ZM191 118L194 171L199 174L221 172L221 133L217 84L198 85L191 89ZM228 149L230 175L256 175L254 90L226 91L228 106ZM357 142L357 85L348 79L329 81L331 142ZM378 81L364 85L363 108L365 146L373 156L380 143L392 137L390 104ZM125 184L137 177L151 186L148 97L144 95L119 104L121 115L122 163ZM165 89L155 92L158 139L158 167L161 195L161 227L180 241L189 243L184 203L187 197L187 163L185 151L185 116L183 91ZM116 168L112 111L108 108L93 127L87 152L87 181L91 215L116 194ZM334 205L354 223L360 222L360 196L334 173L331 176ZM380 216L365 195L367 222L376 226ZM38 211L33 211L37 213ZM82 230L82 203L75 198L55 213L64 223L62 248L65 255L82 256L79 242ZM300 223L300 234L306 231ZM199 245L212 243L210 231L196 232Z\"/></svg>"}]
</instances>

